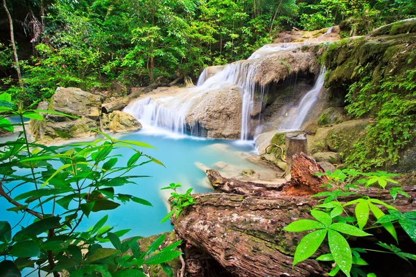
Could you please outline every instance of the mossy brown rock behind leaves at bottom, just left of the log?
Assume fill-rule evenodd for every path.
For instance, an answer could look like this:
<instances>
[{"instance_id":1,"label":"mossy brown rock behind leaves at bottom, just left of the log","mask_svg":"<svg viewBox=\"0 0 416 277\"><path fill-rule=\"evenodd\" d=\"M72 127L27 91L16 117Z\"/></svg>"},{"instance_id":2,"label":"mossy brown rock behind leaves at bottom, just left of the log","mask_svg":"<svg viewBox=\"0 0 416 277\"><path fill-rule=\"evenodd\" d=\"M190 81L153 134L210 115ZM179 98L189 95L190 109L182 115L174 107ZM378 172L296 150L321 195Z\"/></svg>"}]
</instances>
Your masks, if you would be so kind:
<instances>
[{"instance_id":1,"label":"mossy brown rock behind leaves at bottom, just left of the log","mask_svg":"<svg viewBox=\"0 0 416 277\"><path fill-rule=\"evenodd\" d=\"M177 238L177 236L173 232L166 232L163 234L165 235L165 240L159 247L159 250L163 247L166 247L169 244L172 244L173 242L177 242L178 240L180 240L180 238ZM152 244L157 238L159 238L160 235L151 235L148 238L141 238L137 240L137 242L139 243L140 251L146 252L148 250L148 247L150 247L150 244ZM132 255L132 251L129 249L125 254ZM174 260L169 261L168 265L171 267L173 271L173 276L176 276L177 271L179 271L182 267L182 262L180 261L180 258L176 258ZM168 277L168 274L166 274L163 271L160 265L143 265L143 269L144 273L148 274L147 276L149 277Z\"/></svg>"}]
</instances>

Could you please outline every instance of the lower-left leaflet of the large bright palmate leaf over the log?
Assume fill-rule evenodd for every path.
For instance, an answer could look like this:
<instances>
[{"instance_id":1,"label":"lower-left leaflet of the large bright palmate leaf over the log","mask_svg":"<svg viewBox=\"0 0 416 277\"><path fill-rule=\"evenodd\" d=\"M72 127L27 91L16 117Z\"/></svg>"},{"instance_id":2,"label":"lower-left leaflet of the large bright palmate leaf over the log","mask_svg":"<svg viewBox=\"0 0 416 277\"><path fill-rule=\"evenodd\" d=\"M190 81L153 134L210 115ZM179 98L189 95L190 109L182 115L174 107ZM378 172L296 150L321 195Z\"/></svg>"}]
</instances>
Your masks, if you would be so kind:
<instances>
[{"instance_id":1,"label":"lower-left leaflet of the large bright palmate leaf over the log","mask_svg":"<svg viewBox=\"0 0 416 277\"><path fill-rule=\"evenodd\" d=\"M311 257L313 253L318 250L326 235L326 229L313 231L312 233L305 235L296 247L295 258L293 258L293 266Z\"/></svg>"}]
</instances>

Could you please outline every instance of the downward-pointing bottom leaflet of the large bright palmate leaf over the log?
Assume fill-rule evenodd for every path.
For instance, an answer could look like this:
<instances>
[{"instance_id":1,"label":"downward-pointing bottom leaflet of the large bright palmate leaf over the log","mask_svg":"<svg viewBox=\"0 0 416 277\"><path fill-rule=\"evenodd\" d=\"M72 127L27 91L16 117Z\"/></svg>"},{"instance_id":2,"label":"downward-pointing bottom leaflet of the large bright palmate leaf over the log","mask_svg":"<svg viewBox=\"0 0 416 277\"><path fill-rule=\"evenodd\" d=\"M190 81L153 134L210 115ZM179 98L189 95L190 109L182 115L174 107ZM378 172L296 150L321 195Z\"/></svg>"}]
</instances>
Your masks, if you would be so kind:
<instances>
[{"instance_id":1,"label":"downward-pointing bottom leaflet of the large bright palmate leaf over the log","mask_svg":"<svg viewBox=\"0 0 416 277\"><path fill-rule=\"evenodd\" d=\"M329 229L328 244L333 260L335 260L344 274L349 277L349 271L351 271L352 267L352 253L347 240L337 231Z\"/></svg>"}]
</instances>

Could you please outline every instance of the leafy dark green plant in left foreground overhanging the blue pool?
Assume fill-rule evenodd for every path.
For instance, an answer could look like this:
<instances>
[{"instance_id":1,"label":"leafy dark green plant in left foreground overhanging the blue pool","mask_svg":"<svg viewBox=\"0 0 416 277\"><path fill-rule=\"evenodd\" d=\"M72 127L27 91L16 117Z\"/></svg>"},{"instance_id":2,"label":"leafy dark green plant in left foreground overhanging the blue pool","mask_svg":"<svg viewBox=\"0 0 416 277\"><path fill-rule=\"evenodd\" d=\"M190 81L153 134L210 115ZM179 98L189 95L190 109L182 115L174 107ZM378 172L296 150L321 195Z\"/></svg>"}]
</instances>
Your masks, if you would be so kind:
<instances>
[{"instance_id":1,"label":"leafy dark green plant in left foreground overhanging the blue pool","mask_svg":"<svg viewBox=\"0 0 416 277\"><path fill-rule=\"evenodd\" d=\"M10 102L11 96L0 96L0 123L13 131L6 115L43 120L41 113L64 115L56 111L23 109ZM97 131L98 132L98 131ZM114 231L105 225L105 215L87 231L78 231L80 222L91 213L109 211L119 202L136 202L152 206L134 195L116 193L116 188L133 182L131 175L146 163L160 163L136 149L152 148L146 143L119 141L101 133L103 139L67 146L44 146L30 143L23 131L15 141L1 143L0 195L9 203L10 213L21 220L10 226L0 222L0 268L10 276L21 276L19 271L34 268L58 276L62 270L71 276L146 276L142 265L166 265L181 252L175 250L180 242L158 251L164 235L146 251L141 251L137 237L121 242L129 230ZM135 154L125 165L119 163L116 148L126 148ZM28 222L27 226L23 222ZM103 247L111 242L114 248ZM131 254L126 254L130 250Z\"/></svg>"}]
</instances>

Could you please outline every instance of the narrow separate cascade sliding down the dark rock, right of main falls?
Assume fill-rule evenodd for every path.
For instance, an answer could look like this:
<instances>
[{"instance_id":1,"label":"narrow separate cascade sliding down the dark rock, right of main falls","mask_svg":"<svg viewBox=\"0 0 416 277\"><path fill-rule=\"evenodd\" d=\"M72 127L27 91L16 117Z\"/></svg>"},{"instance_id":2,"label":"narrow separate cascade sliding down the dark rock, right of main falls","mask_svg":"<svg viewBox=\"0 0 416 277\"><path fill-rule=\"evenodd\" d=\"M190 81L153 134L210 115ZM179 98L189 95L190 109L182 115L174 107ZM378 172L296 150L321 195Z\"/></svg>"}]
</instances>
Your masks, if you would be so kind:
<instances>
[{"instance_id":1,"label":"narrow separate cascade sliding down the dark rock, right of main falls","mask_svg":"<svg viewBox=\"0 0 416 277\"><path fill-rule=\"evenodd\" d=\"M326 69L324 67L313 88L305 94L297 107L288 112L286 120L281 123L279 129L300 129L313 104L318 100L320 91L324 87L325 72Z\"/></svg>"}]
</instances>

